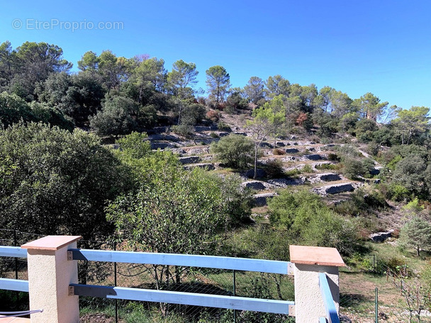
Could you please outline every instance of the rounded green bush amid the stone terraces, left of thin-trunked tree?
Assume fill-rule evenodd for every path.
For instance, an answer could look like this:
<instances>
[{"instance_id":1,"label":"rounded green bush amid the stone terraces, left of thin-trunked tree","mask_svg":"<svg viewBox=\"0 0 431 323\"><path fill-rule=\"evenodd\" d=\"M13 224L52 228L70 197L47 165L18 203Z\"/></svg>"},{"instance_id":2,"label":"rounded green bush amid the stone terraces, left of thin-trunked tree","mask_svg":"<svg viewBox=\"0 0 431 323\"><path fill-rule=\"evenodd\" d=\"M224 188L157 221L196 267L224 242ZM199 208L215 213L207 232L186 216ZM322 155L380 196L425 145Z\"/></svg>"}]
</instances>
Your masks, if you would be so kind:
<instances>
[{"instance_id":1,"label":"rounded green bush amid the stone terraces, left of thin-trunked tree","mask_svg":"<svg viewBox=\"0 0 431 323\"><path fill-rule=\"evenodd\" d=\"M254 142L242 135L228 135L213 142L211 152L227 166L246 169L254 161Z\"/></svg>"}]
</instances>

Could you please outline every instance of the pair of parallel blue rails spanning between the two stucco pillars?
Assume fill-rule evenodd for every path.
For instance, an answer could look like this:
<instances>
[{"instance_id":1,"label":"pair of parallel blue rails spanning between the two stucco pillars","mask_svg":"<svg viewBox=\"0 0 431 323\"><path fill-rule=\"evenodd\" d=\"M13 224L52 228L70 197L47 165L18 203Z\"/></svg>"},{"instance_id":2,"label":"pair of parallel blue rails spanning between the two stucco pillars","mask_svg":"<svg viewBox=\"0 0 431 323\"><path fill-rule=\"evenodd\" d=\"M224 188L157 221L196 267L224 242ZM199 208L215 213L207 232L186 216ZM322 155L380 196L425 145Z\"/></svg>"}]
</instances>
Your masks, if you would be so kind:
<instances>
[{"instance_id":1,"label":"pair of parallel blue rails spanning between the two stucco pillars","mask_svg":"<svg viewBox=\"0 0 431 323\"><path fill-rule=\"evenodd\" d=\"M168 266L187 266L218 268L235 271L257 271L262 273L289 272L289 261L270 261L221 256L198 256L188 254L159 254L130 251L101 251L88 249L69 249L72 260L107 261L115 263L145 263ZM289 314L289 305L294 302L285 300L264 300L251 297L228 295L208 295L184 293L169 290L149 290L99 285L71 284L73 295L103 297L121 300L140 300L147 302L167 302L181 305L218 307L231 310L252 310Z\"/></svg>"}]
</instances>

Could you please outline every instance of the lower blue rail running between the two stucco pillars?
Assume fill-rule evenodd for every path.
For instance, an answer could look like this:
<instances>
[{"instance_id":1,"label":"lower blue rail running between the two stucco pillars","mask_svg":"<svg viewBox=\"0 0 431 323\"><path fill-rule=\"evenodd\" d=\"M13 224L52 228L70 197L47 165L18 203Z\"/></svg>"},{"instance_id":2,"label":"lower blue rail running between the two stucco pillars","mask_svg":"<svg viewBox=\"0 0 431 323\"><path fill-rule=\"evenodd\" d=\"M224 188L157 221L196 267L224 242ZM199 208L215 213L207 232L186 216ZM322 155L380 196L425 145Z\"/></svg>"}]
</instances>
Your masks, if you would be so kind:
<instances>
[{"instance_id":1,"label":"lower blue rail running between the two stucco pillars","mask_svg":"<svg viewBox=\"0 0 431 323\"><path fill-rule=\"evenodd\" d=\"M145 302L166 302L181 305L218 307L230 310L249 310L289 314L289 305L295 302L286 300L262 300L258 298L226 295L182 293L169 290L148 290L99 285L71 284L74 295L113 298L118 300L140 300Z\"/></svg>"}]
</instances>

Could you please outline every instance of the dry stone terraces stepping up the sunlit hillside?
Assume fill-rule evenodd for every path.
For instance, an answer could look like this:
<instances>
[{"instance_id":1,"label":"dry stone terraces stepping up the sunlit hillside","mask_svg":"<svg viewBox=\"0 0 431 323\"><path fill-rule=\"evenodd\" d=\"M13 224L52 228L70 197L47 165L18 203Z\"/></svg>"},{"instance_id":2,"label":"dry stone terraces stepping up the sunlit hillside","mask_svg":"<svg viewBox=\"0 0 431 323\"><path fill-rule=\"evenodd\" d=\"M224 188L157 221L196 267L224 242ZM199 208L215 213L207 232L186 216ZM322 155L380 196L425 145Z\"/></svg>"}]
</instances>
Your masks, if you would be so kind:
<instances>
[{"instance_id":1,"label":"dry stone terraces stepping up the sunlit hillside","mask_svg":"<svg viewBox=\"0 0 431 323\"><path fill-rule=\"evenodd\" d=\"M152 149L171 150L179 156L179 161L184 165L184 169L199 167L207 171L224 171L225 165L218 162L211 154L211 143L231 133L252 137L250 132L239 127L235 127L235 131L230 132L218 130L215 126L196 126L194 130L193 139L187 140L169 132L167 127L155 128L149 135L151 147ZM290 136L262 142L260 150L262 154L258 160L257 176L254 178L254 169L239 173L244 180L242 186L255 192L256 206L266 205L267 198L275 196L276 190L279 188L307 187L321 196L336 196L340 193L352 192L366 182L365 179L364 181L351 181L342 176L341 172L336 169L338 162L329 159L330 154L335 154L333 144L325 145ZM365 152L363 155L369 157ZM278 178L268 176L265 168L269 162L274 162L274 160L281 162L284 171L289 173L296 171L301 174ZM376 174L379 172L379 167L377 164Z\"/></svg>"}]
</instances>

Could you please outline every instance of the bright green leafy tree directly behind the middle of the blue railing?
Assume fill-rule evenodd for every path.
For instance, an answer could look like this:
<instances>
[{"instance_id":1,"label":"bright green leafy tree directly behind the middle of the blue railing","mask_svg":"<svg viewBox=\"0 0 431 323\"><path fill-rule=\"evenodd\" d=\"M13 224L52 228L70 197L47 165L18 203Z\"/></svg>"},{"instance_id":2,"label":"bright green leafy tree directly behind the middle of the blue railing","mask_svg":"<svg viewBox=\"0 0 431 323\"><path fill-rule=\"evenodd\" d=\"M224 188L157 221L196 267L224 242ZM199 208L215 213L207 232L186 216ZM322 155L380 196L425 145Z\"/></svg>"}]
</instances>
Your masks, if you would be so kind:
<instances>
[{"instance_id":1,"label":"bright green leafy tree directly behind the middle of the blue railing","mask_svg":"<svg viewBox=\"0 0 431 323\"><path fill-rule=\"evenodd\" d=\"M217 175L201 169L184 170L172 154L156 152L142 161L147 180L135 193L121 196L108 207L108 219L130 245L145 251L206 254L230 221L228 190ZM240 198L236 197L237 203ZM169 266L154 266L157 288L175 276Z\"/></svg>"}]
</instances>

